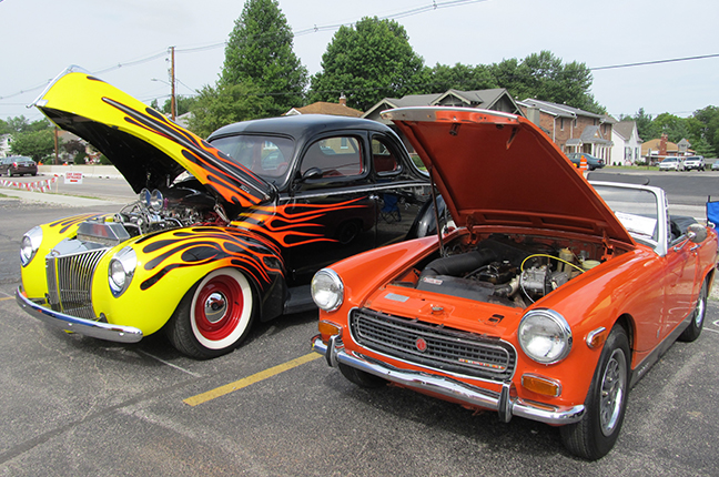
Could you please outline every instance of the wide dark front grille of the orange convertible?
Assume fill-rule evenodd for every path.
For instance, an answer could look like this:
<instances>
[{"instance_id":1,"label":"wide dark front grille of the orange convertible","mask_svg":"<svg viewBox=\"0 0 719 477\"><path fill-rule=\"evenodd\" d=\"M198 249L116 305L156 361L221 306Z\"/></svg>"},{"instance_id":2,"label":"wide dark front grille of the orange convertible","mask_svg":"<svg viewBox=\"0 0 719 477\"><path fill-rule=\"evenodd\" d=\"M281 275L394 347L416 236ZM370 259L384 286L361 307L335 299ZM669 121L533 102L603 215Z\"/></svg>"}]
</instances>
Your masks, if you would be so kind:
<instances>
[{"instance_id":1,"label":"wide dark front grille of the orange convertible","mask_svg":"<svg viewBox=\"0 0 719 477\"><path fill-rule=\"evenodd\" d=\"M354 309L350 333L355 343L411 363L495 380L510 379L516 352L498 338Z\"/></svg>"}]
</instances>

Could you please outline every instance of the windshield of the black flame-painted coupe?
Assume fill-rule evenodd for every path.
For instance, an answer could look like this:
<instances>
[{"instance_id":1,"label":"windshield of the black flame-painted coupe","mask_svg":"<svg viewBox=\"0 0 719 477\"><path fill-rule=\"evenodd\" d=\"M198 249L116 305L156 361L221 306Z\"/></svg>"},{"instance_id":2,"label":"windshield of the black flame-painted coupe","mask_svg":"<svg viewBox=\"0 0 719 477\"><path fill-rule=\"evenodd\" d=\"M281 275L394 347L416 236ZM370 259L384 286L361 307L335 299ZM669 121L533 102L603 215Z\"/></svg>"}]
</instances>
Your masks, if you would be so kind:
<instances>
[{"instance_id":1,"label":"windshield of the black flame-painted coupe","mask_svg":"<svg viewBox=\"0 0 719 477\"><path fill-rule=\"evenodd\" d=\"M283 176L292 162L294 141L271 135L237 134L217 138L212 145L263 179Z\"/></svg>"}]
</instances>

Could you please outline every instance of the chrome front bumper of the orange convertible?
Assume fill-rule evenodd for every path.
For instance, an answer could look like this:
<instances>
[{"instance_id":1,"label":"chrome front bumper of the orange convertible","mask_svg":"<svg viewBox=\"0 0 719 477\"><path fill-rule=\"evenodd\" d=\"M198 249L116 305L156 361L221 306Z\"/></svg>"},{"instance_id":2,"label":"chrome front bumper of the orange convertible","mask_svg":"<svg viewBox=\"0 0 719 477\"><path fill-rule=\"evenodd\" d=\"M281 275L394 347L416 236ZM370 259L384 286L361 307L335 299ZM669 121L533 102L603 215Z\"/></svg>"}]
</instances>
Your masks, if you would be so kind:
<instances>
[{"instance_id":1,"label":"chrome front bumper of the orange convertible","mask_svg":"<svg viewBox=\"0 0 719 477\"><path fill-rule=\"evenodd\" d=\"M496 393L446 376L399 369L366 356L347 353L336 336L331 338L330 345L315 336L312 341L312 349L324 355L330 366L337 367L337 364L342 363L403 386L496 410L499 419L505 423L508 423L513 416L518 416L546 424L565 425L581 420L585 412L584 405L559 407L512 397L510 383L504 383L502 392Z\"/></svg>"}]
</instances>

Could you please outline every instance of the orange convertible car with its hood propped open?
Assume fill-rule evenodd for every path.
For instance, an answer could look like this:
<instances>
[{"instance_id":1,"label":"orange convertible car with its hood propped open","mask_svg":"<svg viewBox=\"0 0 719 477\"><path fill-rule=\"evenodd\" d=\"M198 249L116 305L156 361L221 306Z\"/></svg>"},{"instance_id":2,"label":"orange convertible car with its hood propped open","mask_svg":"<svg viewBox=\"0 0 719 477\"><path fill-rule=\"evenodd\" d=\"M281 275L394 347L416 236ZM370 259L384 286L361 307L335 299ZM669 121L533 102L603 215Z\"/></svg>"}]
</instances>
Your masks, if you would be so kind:
<instances>
[{"instance_id":1,"label":"orange convertible car with its hood propped open","mask_svg":"<svg viewBox=\"0 0 719 477\"><path fill-rule=\"evenodd\" d=\"M360 386L392 382L561 426L570 453L606 455L631 385L675 339L701 333L717 234L670 216L658 187L588 183L524 118L384 115L452 221L438 213L439 235L317 272L313 348Z\"/></svg>"}]
</instances>

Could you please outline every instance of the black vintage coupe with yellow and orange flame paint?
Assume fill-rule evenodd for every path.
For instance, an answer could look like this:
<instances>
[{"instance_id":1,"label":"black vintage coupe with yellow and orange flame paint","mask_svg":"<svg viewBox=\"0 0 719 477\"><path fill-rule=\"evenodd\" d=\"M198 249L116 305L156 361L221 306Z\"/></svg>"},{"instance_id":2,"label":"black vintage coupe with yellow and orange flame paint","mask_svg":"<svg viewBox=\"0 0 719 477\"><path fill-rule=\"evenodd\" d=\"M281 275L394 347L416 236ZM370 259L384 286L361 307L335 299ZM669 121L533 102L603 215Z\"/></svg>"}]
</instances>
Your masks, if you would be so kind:
<instances>
[{"instance_id":1,"label":"black vintage coupe with yellow and orange flame paint","mask_svg":"<svg viewBox=\"0 0 719 477\"><path fill-rule=\"evenodd\" d=\"M313 274L405 238L429 181L386 125L317 114L232 124L204 141L88 74L37 102L101 151L136 202L22 238L16 298L65 331L227 353L255 321L313 309Z\"/></svg>"}]
</instances>

